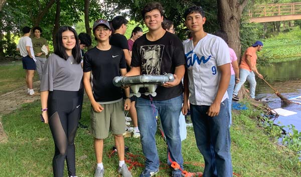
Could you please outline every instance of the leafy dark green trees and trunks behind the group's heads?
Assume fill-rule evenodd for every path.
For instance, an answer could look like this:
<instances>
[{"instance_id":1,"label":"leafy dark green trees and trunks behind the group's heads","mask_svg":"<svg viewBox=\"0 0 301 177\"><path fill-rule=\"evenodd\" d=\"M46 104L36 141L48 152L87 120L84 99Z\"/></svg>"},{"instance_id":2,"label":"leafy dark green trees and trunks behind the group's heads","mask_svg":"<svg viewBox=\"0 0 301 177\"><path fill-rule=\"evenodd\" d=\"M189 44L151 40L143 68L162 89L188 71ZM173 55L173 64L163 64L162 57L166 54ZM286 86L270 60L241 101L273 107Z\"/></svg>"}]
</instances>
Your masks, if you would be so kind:
<instances>
[{"instance_id":1,"label":"leafy dark green trees and trunks behind the group's heads","mask_svg":"<svg viewBox=\"0 0 301 177\"><path fill-rule=\"evenodd\" d=\"M149 0L0 0L0 56L14 56L14 37L20 36L24 26L40 26L42 36L52 45L56 30L63 25L74 26L85 22L85 30L90 34L91 25L99 18L111 20L116 15L123 15L134 22L143 24L141 9ZM190 6L201 6L207 18L204 30L214 33L219 29L225 30L230 38L229 45L240 53L240 47L235 47L243 42L242 49L248 46L255 38L263 37L263 25L247 23L242 15L246 3L247 9L253 4L291 3L299 0L159 0L164 9L164 18L172 20L176 27L177 35L185 39L187 29L184 25L183 14ZM2 10L1 10L2 8ZM240 8L238 11L237 9ZM246 10L245 10L246 12ZM223 14L224 13L224 14ZM234 29L230 26L236 24ZM274 23L275 26L280 23ZM229 27L229 28L228 28ZM14 35L12 35L14 34ZM232 40L232 41L231 41ZM14 53L15 52L15 53Z\"/></svg>"}]
</instances>

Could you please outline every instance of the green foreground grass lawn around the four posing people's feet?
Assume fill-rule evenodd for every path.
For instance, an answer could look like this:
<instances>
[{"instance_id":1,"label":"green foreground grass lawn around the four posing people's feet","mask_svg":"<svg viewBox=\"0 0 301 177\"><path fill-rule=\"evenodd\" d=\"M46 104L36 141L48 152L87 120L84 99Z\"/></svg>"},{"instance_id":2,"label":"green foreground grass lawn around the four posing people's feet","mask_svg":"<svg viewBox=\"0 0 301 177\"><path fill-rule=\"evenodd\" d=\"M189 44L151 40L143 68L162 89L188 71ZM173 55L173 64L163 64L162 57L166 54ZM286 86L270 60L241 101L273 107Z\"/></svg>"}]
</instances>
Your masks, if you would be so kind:
<instances>
[{"instance_id":1,"label":"green foreground grass lawn around the four posing people's feet","mask_svg":"<svg viewBox=\"0 0 301 177\"><path fill-rule=\"evenodd\" d=\"M81 122L89 125L90 104L87 100L83 105ZM21 110L3 117L3 125L9 136L9 142L0 144L0 176L53 176L52 157L54 143L49 126L40 122L40 103L25 104ZM275 145L270 138L258 128L255 120L250 117L260 114L253 109L242 111L233 117L231 127L233 171L240 176L275 177L301 176L300 162L296 155L286 148ZM187 139L183 141L182 151L184 167L191 172L203 171L203 157L196 147L192 127L188 127ZM157 176L169 176L171 169L165 165L166 145L158 131L157 147L159 151L161 170ZM118 176L117 155L111 158L108 154L114 145L112 136L105 139L104 167L105 176ZM131 153L137 156L137 161L143 163L140 140L125 138ZM93 176L96 165L93 138L89 130L78 129L75 138L77 175ZM66 168L66 167L65 167ZM134 167L131 172L138 176L142 167ZM65 176L67 171L65 169ZM234 175L236 176L236 175Z\"/></svg>"}]
</instances>

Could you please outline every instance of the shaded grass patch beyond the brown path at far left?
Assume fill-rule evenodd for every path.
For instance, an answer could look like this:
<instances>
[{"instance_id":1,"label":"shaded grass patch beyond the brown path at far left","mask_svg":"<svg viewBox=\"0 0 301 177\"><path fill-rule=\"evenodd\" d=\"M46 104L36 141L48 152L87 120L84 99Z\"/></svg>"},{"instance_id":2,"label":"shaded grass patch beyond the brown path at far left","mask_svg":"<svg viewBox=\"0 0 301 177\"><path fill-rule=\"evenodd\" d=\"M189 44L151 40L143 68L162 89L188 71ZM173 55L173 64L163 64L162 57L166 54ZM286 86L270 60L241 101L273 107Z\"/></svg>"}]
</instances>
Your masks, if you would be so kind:
<instances>
[{"instance_id":1,"label":"shaded grass patch beyond the brown path at far left","mask_svg":"<svg viewBox=\"0 0 301 177\"><path fill-rule=\"evenodd\" d=\"M0 64L0 95L25 86L25 70L22 61L7 62ZM38 81L38 74L35 72L34 82Z\"/></svg>"}]
</instances>

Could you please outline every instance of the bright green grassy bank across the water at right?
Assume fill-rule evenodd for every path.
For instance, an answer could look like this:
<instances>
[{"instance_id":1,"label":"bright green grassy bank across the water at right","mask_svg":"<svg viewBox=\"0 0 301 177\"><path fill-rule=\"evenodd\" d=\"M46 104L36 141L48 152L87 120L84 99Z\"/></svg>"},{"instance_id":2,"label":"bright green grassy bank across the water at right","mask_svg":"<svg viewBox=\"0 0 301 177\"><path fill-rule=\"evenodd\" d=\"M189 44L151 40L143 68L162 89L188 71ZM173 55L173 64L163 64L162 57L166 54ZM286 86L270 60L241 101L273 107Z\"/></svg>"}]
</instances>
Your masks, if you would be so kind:
<instances>
[{"instance_id":1,"label":"bright green grassy bank across the water at right","mask_svg":"<svg viewBox=\"0 0 301 177\"><path fill-rule=\"evenodd\" d=\"M267 65L301 58L301 29L294 27L289 32L262 40L263 48L257 53L259 65Z\"/></svg>"}]
</instances>

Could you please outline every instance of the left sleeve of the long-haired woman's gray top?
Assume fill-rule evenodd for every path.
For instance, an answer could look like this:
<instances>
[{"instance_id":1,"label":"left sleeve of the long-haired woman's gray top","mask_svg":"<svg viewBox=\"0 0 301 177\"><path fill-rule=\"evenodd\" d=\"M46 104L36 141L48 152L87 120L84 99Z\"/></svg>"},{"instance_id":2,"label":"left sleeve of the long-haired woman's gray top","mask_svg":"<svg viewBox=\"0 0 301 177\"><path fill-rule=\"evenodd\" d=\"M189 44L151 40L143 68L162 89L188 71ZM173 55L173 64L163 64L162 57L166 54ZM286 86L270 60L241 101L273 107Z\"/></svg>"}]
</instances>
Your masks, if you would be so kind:
<instances>
[{"instance_id":1,"label":"left sleeve of the long-haired woman's gray top","mask_svg":"<svg viewBox=\"0 0 301 177\"><path fill-rule=\"evenodd\" d=\"M53 70L55 67L55 63L53 61L55 59L52 56L53 55L49 56L49 58L45 62L42 73L40 91L53 91Z\"/></svg>"}]
</instances>

